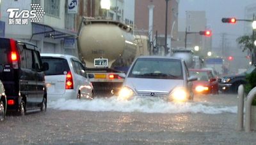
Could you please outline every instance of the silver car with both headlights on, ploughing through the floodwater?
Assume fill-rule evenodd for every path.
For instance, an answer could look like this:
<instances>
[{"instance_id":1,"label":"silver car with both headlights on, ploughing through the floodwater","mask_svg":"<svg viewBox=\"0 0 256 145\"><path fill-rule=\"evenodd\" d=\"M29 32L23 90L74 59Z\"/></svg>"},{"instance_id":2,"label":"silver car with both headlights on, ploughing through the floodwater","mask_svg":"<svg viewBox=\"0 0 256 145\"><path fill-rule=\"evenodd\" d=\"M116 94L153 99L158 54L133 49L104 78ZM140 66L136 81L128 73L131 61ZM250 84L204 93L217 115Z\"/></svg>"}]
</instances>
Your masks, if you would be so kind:
<instances>
[{"instance_id":1,"label":"silver car with both headlights on, ploughing through the floodwater","mask_svg":"<svg viewBox=\"0 0 256 145\"><path fill-rule=\"evenodd\" d=\"M124 76L122 76L124 77ZM192 83L183 59L144 56L134 60L127 72L118 98L163 97L164 99L193 100Z\"/></svg>"}]
</instances>

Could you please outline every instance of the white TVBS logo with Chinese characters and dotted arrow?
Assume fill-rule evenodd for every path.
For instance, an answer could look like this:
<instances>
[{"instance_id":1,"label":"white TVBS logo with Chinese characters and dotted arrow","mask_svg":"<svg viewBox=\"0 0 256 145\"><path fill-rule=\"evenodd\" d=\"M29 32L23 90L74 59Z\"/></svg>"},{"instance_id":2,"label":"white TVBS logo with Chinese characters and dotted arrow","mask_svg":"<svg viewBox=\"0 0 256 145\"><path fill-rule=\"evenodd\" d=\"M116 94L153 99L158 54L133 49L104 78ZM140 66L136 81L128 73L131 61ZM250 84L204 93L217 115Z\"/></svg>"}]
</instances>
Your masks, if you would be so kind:
<instances>
[{"instance_id":1,"label":"white TVBS logo with Chinese characters and dotted arrow","mask_svg":"<svg viewBox=\"0 0 256 145\"><path fill-rule=\"evenodd\" d=\"M39 4L31 4L31 11L22 10L19 8L8 8L7 12L9 13L9 24L10 25L24 25L28 24L28 18L30 22L39 22L44 16L45 12L42 10Z\"/></svg>"}]
</instances>

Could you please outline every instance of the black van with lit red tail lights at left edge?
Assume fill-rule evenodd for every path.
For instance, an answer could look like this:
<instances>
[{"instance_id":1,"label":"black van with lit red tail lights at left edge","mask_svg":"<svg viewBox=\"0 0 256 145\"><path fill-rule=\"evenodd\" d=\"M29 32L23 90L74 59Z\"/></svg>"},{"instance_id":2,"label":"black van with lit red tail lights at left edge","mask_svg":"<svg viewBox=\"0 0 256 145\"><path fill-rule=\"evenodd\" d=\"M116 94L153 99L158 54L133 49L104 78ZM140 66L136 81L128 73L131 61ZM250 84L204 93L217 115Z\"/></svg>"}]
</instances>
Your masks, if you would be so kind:
<instances>
[{"instance_id":1,"label":"black van with lit red tail lights at left edge","mask_svg":"<svg viewBox=\"0 0 256 145\"><path fill-rule=\"evenodd\" d=\"M15 39L0 38L0 79L7 97L7 111L24 115L27 110L46 111L47 90L44 71L37 47Z\"/></svg>"}]
</instances>

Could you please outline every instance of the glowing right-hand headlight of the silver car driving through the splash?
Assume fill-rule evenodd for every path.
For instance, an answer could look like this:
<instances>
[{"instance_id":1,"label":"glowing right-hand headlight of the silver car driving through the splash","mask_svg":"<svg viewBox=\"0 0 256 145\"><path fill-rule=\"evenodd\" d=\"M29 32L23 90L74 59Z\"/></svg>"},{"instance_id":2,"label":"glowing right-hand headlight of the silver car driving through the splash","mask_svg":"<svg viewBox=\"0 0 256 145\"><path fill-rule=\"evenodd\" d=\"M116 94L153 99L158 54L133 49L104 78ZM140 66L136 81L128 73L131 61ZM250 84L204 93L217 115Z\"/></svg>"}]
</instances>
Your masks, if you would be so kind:
<instances>
[{"instance_id":1,"label":"glowing right-hand headlight of the silver car driving through the splash","mask_svg":"<svg viewBox=\"0 0 256 145\"><path fill-rule=\"evenodd\" d=\"M178 102L183 102L185 100L188 100L188 92L186 91L185 88L175 88L171 93L170 93L170 99L169 100L174 100Z\"/></svg>"}]
</instances>

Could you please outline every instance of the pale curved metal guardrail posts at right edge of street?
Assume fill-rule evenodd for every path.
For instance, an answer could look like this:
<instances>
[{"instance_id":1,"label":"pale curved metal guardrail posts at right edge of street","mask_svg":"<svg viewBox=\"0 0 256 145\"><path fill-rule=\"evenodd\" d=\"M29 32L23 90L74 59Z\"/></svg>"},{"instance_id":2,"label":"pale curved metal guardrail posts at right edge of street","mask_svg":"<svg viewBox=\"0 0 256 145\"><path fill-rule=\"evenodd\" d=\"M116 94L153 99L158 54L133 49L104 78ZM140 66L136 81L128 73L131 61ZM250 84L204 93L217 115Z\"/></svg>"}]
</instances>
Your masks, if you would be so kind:
<instances>
[{"instance_id":1,"label":"pale curved metal guardrail posts at right edge of street","mask_svg":"<svg viewBox=\"0 0 256 145\"><path fill-rule=\"evenodd\" d=\"M244 130L245 132L250 132L252 123L252 101L256 97L256 87L254 87L247 95L245 102L245 122ZM244 113L244 86L239 85L238 96L237 96L237 130L243 130L243 113Z\"/></svg>"}]
</instances>

